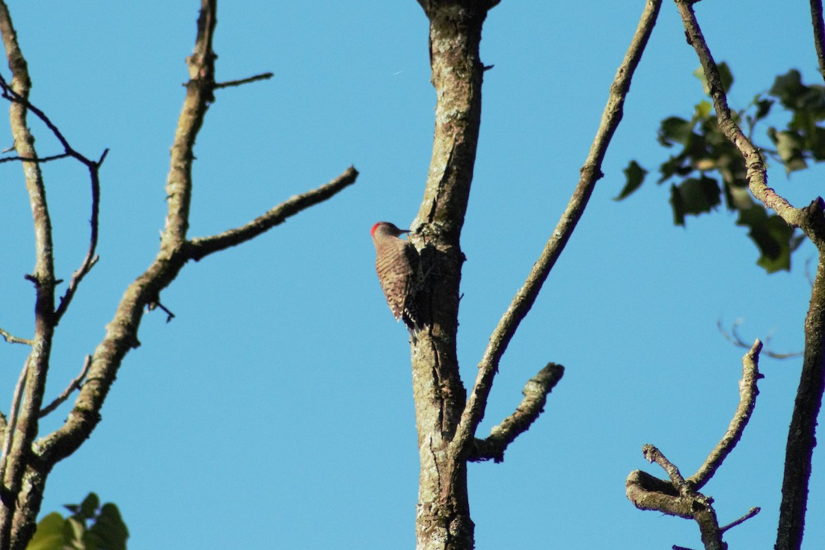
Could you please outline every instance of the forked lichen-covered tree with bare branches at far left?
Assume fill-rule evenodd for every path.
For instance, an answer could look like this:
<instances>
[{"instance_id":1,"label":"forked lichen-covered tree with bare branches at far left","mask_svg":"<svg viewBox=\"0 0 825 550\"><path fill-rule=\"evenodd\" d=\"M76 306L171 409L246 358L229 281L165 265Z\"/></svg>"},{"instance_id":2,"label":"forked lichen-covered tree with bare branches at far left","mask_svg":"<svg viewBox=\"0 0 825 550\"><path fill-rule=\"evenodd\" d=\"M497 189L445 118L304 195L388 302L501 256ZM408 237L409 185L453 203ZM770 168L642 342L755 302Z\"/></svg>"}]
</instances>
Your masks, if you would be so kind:
<instances>
[{"instance_id":1,"label":"forked lichen-covered tree with bare branches at far left","mask_svg":"<svg viewBox=\"0 0 825 550\"><path fill-rule=\"evenodd\" d=\"M139 346L138 328L148 305L158 304L163 291L195 253L200 256L233 244L251 239L271 226L294 215L304 208L331 197L340 189L354 181L357 173L347 170L342 178L320 189L292 198L259 218L247 227L233 230L223 235L214 235L204 240L189 241L186 231L189 226L192 179L191 164L194 160L194 145L206 110L214 101L213 91L217 87L238 86L253 82L264 75L243 81L214 81L214 52L212 36L215 28L216 0L201 0L198 18L197 38L194 53L186 59L190 80L186 84L186 98L178 120L177 132L172 147L172 161L167 178L167 218L161 237L161 245L156 258L145 273L137 277L126 289L115 311L114 319L106 326L106 335L87 358L82 372L73 380L64 393L50 406L42 408L45 374L48 367L50 343L54 327L68 308L82 277L97 261L97 212L99 208L98 169L106 157L106 152L97 161L91 161L74 151L59 129L48 117L28 101L29 81L26 61L16 44L16 33L8 15L6 5L0 0L0 34L6 48L9 66L12 68L11 85L3 90L12 100L11 124L15 137L17 156L26 174L26 189L29 191L35 225L35 271L26 276L35 285L35 333L31 341L14 338L5 331L2 336L11 342L25 342L32 352L21 373L21 383L12 411L19 408L19 418L12 415L11 422L2 417L2 433L8 445L0 463L0 550L23 550L35 529L35 520L40 510L45 481L60 459L64 459L78 449L92 434L100 422L100 410L111 389L121 362L131 348ZM36 114L54 133L64 146L63 155L40 158L32 147L33 137L28 133L26 112ZM92 179L92 235L86 258L74 273L60 305L54 307L54 265L52 263L51 226L45 203L45 189L40 176L40 163L63 156L71 156L87 165ZM268 225L267 225L268 224ZM200 257L199 256L199 257ZM85 383L82 380L86 377ZM82 384L81 384L82 383ZM72 410L63 426L58 430L35 440L38 417L49 413L63 403L75 389L80 389ZM16 422L15 422L16 421Z\"/></svg>"}]
</instances>

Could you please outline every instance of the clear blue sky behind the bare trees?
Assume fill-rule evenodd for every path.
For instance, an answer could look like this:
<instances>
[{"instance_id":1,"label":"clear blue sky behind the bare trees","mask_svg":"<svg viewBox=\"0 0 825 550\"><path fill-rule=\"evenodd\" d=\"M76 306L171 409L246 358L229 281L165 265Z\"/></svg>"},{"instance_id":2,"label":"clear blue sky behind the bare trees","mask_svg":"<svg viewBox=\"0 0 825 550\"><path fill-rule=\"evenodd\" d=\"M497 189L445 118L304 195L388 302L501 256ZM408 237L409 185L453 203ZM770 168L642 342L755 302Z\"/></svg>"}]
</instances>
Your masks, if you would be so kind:
<instances>
[{"instance_id":1,"label":"clear blue sky behind the bare trees","mask_svg":"<svg viewBox=\"0 0 825 550\"><path fill-rule=\"evenodd\" d=\"M537 259L578 178L608 86L643 2L508 2L484 28L483 124L462 237L459 354L466 383L489 334ZM100 263L59 326L49 395L103 336L126 285L148 266L191 53L197 2L12 4L34 82L31 100L101 171ZM696 6L742 107L775 75L818 82L804 2ZM176 318L146 315L103 422L50 476L43 510L96 491L114 501L130 548L413 548L417 449L406 331L374 272L375 221L415 217L431 152L435 95L417 2L222 2L219 80L275 77L218 91L196 145L191 236L238 226L348 165L356 185L237 249L187 265L161 296ZM727 212L672 226L667 186L623 203L630 158L667 159L658 121L701 99L698 61L672 3L634 78L590 207L507 350L481 426L512 412L547 361L566 372L540 420L503 464L470 468L476 548L697 548L686 520L635 510L625 478L652 443L690 475L738 402L744 338L803 345L804 262L767 276ZM7 72L4 72L7 74ZM40 154L55 143L32 124ZM12 139L0 130L0 142ZM0 326L31 334L31 214L20 167L5 182ZM797 206L822 193L821 168L771 184ZM68 279L87 246L80 165L45 166L56 264ZM0 346L7 401L23 347ZM771 548L785 434L800 361L764 359L752 422L705 487L731 548ZM2 406L7 411L8 405ZM68 405L45 422L62 422ZM823 548L825 461L814 454L804 548Z\"/></svg>"}]
</instances>

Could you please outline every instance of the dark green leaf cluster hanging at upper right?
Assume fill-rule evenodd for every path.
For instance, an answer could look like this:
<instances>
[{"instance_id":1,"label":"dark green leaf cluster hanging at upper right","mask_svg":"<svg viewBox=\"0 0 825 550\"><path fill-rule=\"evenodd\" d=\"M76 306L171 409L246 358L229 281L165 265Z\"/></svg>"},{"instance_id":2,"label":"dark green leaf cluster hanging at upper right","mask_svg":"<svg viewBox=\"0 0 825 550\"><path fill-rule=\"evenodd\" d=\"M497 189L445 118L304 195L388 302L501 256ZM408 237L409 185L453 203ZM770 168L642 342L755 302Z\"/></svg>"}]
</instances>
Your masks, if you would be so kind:
<instances>
[{"instance_id":1,"label":"dark green leaf cluster hanging at upper right","mask_svg":"<svg viewBox=\"0 0 825 550\"><path fill-rule=\"evenodd\" d=\"M733 74L726 63L719 63L722 85L727 92L733 86ZM705 95L709 88L701 69L695 73ZM731 114L733 121L747 128L753 139L757 124L779 106L790 114L784 128L768 126L764 135L772 147L761 147L771 161L785 166L790 175L808 168L809 161L825 161L825 86L807 86L799 71L792 69L775 78L770 90L754 97L744 110ZM781 118L781 117L780 117ZM777 215L754 201L747 185L747 170L742 155L728 141L708 100L694 106L690 119L669 116L663 119L657 140L662 147L676 149L658 168L657 184L670 182L670 205L673 222L684 226L686 217L699 216L716 210L724 202L730 212L737 212L737 225L748 229L748 236L759 249L757 264L768 273L790 269L791 253L803 237L795 233ZM630 161L625 172L625 187L616 197L629 197L644 182L648 170L637 161Z\"/></svg>"}]
</instances>

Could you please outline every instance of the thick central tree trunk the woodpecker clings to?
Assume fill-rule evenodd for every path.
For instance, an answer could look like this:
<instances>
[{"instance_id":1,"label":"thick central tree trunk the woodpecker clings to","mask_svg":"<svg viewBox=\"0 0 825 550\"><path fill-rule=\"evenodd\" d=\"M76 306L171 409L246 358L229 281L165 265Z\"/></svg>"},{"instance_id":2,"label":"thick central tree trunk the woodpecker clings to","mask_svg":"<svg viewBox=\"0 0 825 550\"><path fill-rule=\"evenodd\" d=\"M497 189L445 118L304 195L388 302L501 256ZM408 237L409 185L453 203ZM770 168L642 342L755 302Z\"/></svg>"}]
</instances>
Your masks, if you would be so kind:
<instances>
[{"instance_id":1,"label":"thick central tree trunk the woodpecker clings to","mask_svg":"<svg viewBox=\"0 0 825 550\"><path fill-rule=\"evenodd\" d=\"M465 453L450 447L466 401L456 355L460 233L473 179L481 122L483 65L479 43L488 5L474 0L424 2L430 21L430 63L436 88L436 127L427 187L413 227L431 266L426 334L413 344L421 474L416 515L418 550L468 550Z\"/></svg>"}]
</instances>

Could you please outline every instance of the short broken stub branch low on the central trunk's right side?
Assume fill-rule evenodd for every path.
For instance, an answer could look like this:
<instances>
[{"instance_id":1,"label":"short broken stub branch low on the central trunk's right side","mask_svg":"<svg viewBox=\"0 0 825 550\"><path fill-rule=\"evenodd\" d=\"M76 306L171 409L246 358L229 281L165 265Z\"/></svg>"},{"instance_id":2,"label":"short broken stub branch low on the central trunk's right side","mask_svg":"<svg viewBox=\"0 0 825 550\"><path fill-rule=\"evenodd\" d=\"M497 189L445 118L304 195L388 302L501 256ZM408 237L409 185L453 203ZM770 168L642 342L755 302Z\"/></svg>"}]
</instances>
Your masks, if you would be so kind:
<instances>
[{"instance_id":1,"label":"short broken stub branch low on the central trunk's right side","mask_svg":"<svg viewBox=\"0 0 825 550\"><path fill-rule=\"evenodd\" d=\"M470 451L469 460L480 461L493 459L495 462L504 460L504 451L516 437L530 428L535 419L544 412L544 403L547 403L549 394L562 379L564 367L555 363L548 363L531 378L521 392L521 400L516 411L498 426L494 426L490 435L484 440L475 440Z\"/></svg>"}]
</instances>

